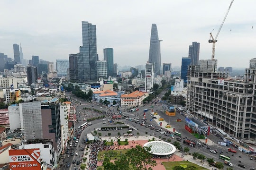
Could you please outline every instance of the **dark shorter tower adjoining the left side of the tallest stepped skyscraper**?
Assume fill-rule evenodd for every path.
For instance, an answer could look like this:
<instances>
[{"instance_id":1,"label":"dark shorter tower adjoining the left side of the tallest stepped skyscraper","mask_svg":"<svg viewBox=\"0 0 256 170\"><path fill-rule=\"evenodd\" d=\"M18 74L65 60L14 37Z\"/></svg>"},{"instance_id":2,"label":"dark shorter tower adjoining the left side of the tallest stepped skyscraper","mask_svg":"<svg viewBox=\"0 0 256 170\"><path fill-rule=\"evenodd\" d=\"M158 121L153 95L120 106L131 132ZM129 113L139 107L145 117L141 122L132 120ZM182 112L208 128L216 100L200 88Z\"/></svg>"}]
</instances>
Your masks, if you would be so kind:
<instances>
[{"instance_id":1,"label":"dark shorter tower adjoining the left side of the tallest stepped skyscraper","mask_svg":"<svg viewBox=\"0 0 256 170\"><path fill-rule=\"evenodd\" d=\"M69 54L69 81L78 82L78 54Z\"/></svg>"}]
</instances>

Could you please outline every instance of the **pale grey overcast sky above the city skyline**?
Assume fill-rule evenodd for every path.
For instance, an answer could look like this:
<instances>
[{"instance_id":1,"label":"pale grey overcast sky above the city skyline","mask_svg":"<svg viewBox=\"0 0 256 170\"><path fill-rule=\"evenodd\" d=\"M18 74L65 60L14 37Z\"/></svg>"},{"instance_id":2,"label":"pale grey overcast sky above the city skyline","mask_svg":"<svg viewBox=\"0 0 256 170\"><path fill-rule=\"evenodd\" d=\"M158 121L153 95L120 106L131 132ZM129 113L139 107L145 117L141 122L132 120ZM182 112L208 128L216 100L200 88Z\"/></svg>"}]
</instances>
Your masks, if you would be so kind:
<instances>
[{"instance_id":1,"label":"pale grey overcast sky above the city skyline","mask_svg":"<svg viewBox=\"0 0 256 170\"><path fill-rule=\"evenodd\" d=\"M97 51L114 49L120 66L145 65L151 24L161 42L161 63L181 66L192 42L200 59L210 59L212 43L231 0L1 0L0 52L13 57L21 43L25 59L68 59L82 45L82 21L96 25ZM255 26L255 28L253 28ZM256 0L235 0L216 42L218 67L248 68L256 57Z\"/></svg>"}]
</instances>

